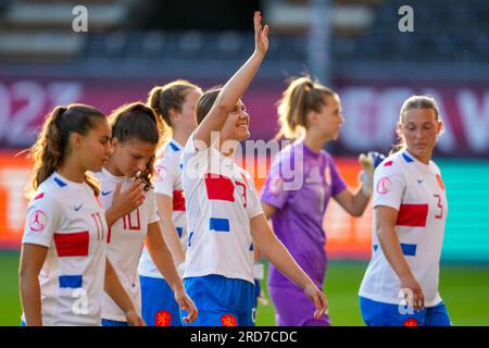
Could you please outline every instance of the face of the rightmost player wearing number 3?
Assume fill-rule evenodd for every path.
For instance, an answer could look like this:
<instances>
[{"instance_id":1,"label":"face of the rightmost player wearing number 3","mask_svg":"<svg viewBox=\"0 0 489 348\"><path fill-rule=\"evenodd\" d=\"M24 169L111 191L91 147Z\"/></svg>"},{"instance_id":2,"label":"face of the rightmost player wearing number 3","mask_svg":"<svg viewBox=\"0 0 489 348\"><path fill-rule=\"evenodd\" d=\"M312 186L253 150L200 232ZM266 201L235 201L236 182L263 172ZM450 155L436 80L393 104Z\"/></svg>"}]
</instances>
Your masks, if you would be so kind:
<instances>
[{"instance_id":1,"label":"face of the rightmost player wearing number 3","mask_svg":"<svg viewBox=\"0 0 489 348\"><path fill-rule=\"evenodd\" d=\"M432 109L409 110L398 125L398 132L404 137L408 151L422 162L429 162L437 142L442 123L437 121Z\"/></svg>"}]
</instances>

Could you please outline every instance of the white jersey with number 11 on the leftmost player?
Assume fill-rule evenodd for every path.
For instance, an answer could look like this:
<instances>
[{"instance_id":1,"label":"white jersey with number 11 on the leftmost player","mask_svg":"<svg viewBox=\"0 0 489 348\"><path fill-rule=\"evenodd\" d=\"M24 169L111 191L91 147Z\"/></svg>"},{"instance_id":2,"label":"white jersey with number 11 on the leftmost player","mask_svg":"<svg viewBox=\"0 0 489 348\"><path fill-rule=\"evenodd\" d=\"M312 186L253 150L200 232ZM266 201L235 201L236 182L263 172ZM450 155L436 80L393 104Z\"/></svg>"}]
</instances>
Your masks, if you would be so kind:
<instances>
[{"instance_id":1,"label":"white jersey with number 11 on the leftmost player","mask_svg":"<svg viewBox=\"0 0 489 348\"><path fill-rule=\"evenodd\" d=\"M106 237L104 211L88 184L54 172L39 185L22 243L48 248L39 274L43 325L100 325Z\"/></svg>"}]
</instances>

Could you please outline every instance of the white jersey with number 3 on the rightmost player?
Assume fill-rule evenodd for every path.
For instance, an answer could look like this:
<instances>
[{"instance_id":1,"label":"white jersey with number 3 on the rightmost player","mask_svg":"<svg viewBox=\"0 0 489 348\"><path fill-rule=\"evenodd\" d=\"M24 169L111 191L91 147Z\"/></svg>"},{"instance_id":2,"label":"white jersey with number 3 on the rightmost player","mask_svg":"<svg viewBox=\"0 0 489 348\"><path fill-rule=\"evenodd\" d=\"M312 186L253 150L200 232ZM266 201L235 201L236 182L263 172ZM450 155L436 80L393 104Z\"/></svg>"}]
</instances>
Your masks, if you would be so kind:
<instances>
[{"instance_id":1,"label":"white jersey with number 3 on the rightmost player","mask_svg":"<svg viewBox=\"0 0 489 348\"><path fill-rule=\"evenodd\" d=\"M417 161L406 150L388 157L375 171L373 206L399 211L396 232L404 258L423 289L425 306L437 306L441 301L439 262L448 213L439 167L432 161L429 165ZM400 304L403 299L401 282L378 243L375 214L372 225L372 260L360 296Z\"/></svg>"}]
</instances>

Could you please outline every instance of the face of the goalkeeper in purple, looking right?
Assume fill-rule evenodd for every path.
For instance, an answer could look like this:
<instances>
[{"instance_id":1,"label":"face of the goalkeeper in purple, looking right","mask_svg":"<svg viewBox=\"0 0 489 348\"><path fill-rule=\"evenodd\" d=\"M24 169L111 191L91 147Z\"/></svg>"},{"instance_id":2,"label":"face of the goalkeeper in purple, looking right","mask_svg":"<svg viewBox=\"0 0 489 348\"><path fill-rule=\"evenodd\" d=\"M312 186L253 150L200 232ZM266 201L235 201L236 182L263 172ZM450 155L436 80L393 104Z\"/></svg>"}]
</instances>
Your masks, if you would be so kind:
<instances>
[{"instance_id":1,"label":"face of the goalkeeper in purple, looking right","mask_svg":"<svg viewBox=\"0 0 489 348\"><path fill-rule=\"evenodd\" d=\"M325 105L322 108L317 120L317 130L327 140L336 140L339 136L339 129L344 122L341 109L341 102L338 96L326 96ZM314 126L314 125L313 125Z\"/></svg>"}]
</instances>

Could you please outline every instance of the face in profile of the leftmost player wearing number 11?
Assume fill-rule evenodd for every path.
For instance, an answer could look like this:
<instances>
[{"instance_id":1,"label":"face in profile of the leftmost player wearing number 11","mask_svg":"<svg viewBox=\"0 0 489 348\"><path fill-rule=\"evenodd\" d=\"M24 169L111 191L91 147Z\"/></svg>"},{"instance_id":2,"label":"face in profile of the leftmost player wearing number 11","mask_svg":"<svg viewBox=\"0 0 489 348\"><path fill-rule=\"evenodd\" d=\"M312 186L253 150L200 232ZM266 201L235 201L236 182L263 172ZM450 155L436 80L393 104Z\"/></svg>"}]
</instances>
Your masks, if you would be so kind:
<instances>
[{"instance_id":1,"label":"face in profile of the leftmost player wearing number 11","mask_svg":"<svg viewBox=\"0 0 489 348\"><path fill-rule=\"evenodd\" d=\"M87 135L79 137L79 154L86 170L98 172L111 156L111 127L106 120L97 120Z\"/></svg>"}]
</instances>

